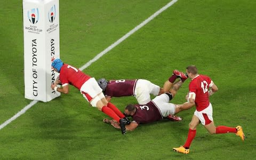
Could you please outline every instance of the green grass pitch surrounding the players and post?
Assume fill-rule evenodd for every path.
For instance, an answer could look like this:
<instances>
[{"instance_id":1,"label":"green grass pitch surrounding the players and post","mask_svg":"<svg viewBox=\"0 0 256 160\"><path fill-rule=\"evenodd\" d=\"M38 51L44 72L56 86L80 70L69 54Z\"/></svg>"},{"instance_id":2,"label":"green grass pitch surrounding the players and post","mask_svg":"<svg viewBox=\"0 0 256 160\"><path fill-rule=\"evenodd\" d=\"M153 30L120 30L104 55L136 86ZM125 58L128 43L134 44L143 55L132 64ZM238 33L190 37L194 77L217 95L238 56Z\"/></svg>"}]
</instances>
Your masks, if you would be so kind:
<instances>
[{"instance_id":1,"label":"green grass pitch surrounding the players and post","mask_svg":"<svg viewBox=\"0 0 256 160\"><path fill-rule=\"evenodd\" d=\"M82 67L169 2L60 1L61 59ZM31 100L24 98L22 1L0 6L2 124ZM256 1L179 0L83 70L96 79L143 78L162 86L173 69L196 65L219 87L210 98L215 125L243 126L244 142L231 133L210 135L199 125L190 154L178 154L172 148L185 143L195 108L179 113L182 122L142 124L122 135L70 87L69 94L36 103L0 130L0 159L254 159L255 11ZM173 103L185 102L189 81ZM111 102L123 111L136 100Z\"/></svg>"}]
</instances>

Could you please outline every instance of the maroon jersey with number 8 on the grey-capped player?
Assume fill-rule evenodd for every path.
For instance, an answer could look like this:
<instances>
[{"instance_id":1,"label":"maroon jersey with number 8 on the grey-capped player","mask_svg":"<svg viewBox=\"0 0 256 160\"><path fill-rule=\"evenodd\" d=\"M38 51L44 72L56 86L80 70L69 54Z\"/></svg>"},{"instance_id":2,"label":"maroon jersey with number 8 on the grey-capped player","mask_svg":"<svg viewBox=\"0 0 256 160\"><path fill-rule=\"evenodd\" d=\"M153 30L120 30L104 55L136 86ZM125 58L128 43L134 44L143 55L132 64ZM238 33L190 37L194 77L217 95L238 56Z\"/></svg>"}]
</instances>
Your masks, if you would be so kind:
<instances>
[{"instance_id":1,"label":"maroon jersey with number 8 on the grey-capped player","mask_svg":"<svg viewBox=\"0 0 256 160\"><path fill-rule=\"evenodd\" d=\"M123 97L134 95L136 82L137 79L120 79L109 81L104 94L106 97Z\"/></svg>"}]
</instances>

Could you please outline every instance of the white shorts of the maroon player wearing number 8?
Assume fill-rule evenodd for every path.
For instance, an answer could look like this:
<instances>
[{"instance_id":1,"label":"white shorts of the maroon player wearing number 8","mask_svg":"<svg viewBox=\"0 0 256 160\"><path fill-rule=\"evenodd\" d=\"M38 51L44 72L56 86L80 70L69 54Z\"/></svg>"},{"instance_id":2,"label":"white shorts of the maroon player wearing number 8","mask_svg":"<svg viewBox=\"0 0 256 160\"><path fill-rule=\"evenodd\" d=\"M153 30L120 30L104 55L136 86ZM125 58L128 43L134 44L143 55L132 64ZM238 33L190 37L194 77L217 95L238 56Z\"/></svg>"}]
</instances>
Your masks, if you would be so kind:
<instances>
[{"instance_id":1,"label":"white shorts of the maroon player wearing number 8","mask_svg":"<svg viewBox=\"0 0 256 160\"><path fill-rule=\"evenodd\" d=\"M146 79L138 79L134 89L134 96L139 105L145 105L150 102L150 94L158 95L160 87Z\"/></svg>"}]
</instances>

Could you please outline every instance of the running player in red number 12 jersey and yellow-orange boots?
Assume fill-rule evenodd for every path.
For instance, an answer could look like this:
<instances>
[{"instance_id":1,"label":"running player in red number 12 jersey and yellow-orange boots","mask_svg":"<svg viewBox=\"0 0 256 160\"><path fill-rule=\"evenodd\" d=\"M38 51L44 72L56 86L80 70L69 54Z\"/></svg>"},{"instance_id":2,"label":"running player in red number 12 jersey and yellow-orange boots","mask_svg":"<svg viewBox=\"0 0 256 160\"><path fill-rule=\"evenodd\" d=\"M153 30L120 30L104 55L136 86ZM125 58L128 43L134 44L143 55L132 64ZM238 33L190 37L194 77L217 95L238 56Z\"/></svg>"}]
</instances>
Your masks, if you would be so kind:
<instances>
[{"instance_id":1,"label":"running player in red number 12 jersey and yellow-orange boots","mask_svg":"<svg viewBox=\"0 0 256 160\"><path fill-rule=\"evenodd\" d=\"M187 95L188 102L181 105L181 110L189 109L196 106L196 111L189 123L188 138L185 145L173 148L179 153L188 154L191 142L196 136L196 126L201 122L207 131L211 134L219 133L236 133L244 141L244 133L241 126L215 127L212 117L212 105L209 96L218 91L217 85L213 83L210 77L197 74L196 66L188 66L186 68L188 77L191 79L189 84L189 93ZM210 90L209 90L210 89Z\"/></svg>"}]
</instances>

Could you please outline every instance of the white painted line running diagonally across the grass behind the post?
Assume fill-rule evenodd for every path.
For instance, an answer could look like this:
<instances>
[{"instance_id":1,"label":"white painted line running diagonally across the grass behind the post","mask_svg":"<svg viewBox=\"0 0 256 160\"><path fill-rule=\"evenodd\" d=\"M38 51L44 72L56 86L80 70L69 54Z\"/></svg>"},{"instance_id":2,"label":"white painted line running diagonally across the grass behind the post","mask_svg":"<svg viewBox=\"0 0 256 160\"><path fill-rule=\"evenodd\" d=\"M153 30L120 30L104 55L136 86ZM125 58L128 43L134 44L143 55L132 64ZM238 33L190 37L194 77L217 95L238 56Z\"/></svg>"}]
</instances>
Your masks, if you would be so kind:
<instances>
[{"instance_id":1,"label":"white painted line running diagonally across the grass behind the post","mask_svg":"<svg viewBox=\"0 0 256 160\"><path fill-rule=\"evenodd\" d=\"M106 54L108 51L110 51L111 49L113 49L115 46L117 46L119 43L123 42L126 38L128 38L129 36L131 36L133 33L135 33L135 31L139 30L141 27L145 26L149 21L153 20L155 17L157 17L157 15L159 15L160 13L162 13L163 11L165 11L166 9L168 9L170 6L172 6L174 3L176 3L178 0L173 0L170 3L166 4L164 7L162 7L162 9L156 11L154 14L152 14L149 18L147 18L145 21L141 22L140 25L136 26L135 28L133 28L132 30L129 31L129 33L125 34L123 37L121 37L120 39L118 39L115 43L111 44L110 46L108 46L105 50L103 50L102 52L100 52L99 54L97 54L92 60L90 60L89 62L85 63L84 66L82 66L81 68L79 68L80 70L84 70L85 68L89 67L93 62L97 61L99 58L101 58L104 54ZM14 121L16 118L18 118L19 116L21 116L22 114L24 114L29 108L33 107L38 101L37 100L33 100L29 103L29 105L27 105L26 107L24 107L23 109L21 109L17 114L15 114L13 117L11 117L10 119L8 119L7 121L5 121L3 124L0 125L0 130L3 129L3 127L5 127L6 125L8 125L9 123L11 123L12 121Z\"/></svg>"}]
</instances>

